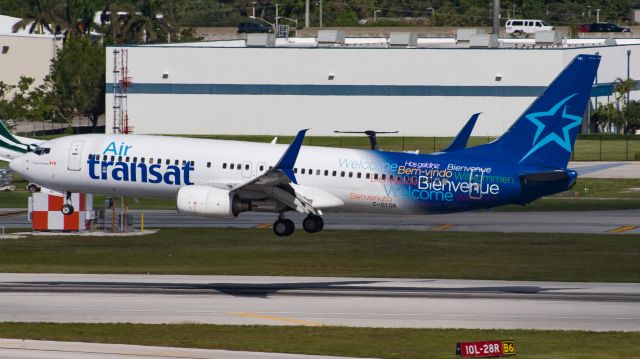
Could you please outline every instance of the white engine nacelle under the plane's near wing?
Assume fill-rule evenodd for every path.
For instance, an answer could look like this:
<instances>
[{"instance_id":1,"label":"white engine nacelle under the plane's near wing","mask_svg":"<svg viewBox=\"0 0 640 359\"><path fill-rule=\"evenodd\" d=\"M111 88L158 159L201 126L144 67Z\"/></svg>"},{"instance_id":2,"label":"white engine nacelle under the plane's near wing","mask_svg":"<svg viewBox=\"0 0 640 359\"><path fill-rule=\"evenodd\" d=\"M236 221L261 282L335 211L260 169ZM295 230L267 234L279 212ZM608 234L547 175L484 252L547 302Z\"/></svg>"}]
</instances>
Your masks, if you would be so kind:
<instances>
[{"instance_id":1,"label":"white engine nacelle under the plane's near wing","mask_svg":"<svg viewBox=\"0 0 640 359\"><path fill-rule=\"evenodd\" d=\"M179 213L203 217L230 218L251 210L251 201L230 191L208 186L185 186L178 190Z\"/></svg>"}]
</instances>

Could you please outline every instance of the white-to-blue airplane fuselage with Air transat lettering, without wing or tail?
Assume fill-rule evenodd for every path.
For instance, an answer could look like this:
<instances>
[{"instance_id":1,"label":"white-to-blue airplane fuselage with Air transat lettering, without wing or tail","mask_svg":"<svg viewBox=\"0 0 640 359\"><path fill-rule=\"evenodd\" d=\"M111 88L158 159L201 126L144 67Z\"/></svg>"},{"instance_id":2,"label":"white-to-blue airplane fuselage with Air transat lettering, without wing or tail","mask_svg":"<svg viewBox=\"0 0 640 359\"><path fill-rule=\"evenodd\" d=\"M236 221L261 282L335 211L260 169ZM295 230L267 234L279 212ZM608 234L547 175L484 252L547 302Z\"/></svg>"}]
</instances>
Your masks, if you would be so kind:
<instances>
[{"instance_id":1,"label":"white-to-blue airplane fuselage with Air transat lettering, without wing or tail","mask_svg":"<svg viewBox=\"0 0 640 359\"><path fill-rule=\"evenodd\" d=\"M77 135L42 144L21 173L45 187L175 198L183 186L231 188L273 167L286 145L145 135ZM44 153L48 152L48 153ZM490 163L490 164L488 164ZM533 169L532 169L533 170ZM335 211L428 213L522 203L526 168L472 161L455 152L419 155L303 146L298 185L339 198ZM260 198L255 198L260 200Z\"/></svg>"}]
</instances>

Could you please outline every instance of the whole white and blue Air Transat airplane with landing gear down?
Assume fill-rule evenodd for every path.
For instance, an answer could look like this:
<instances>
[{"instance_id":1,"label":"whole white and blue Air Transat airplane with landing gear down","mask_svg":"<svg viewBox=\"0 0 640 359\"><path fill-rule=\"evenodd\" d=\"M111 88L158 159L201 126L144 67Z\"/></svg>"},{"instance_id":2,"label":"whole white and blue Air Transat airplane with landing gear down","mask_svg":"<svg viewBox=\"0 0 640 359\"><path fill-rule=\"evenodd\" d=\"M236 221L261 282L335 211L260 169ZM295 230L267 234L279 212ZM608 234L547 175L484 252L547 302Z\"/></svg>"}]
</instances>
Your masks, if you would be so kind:
<instances>
[{"instance_id":1,"label":"whole white and blue Air Transat airplane with landing gear down","mask_svg":"<svg viewBox=\"0 0 640 359\"><path fill-rule=\"evenodd\" d=\"M0 158L42 186L67 194L176 198L178 211L213 218L287 211L322 230L323 212L441 213L529 203L576 181L567 163L600 63L579 55L497 140L465 148L477 115L433 154L149 135L75 135L35 142L0 131ZM70 201L61 208L73 212Z\"/></svg>"}]
</instances>

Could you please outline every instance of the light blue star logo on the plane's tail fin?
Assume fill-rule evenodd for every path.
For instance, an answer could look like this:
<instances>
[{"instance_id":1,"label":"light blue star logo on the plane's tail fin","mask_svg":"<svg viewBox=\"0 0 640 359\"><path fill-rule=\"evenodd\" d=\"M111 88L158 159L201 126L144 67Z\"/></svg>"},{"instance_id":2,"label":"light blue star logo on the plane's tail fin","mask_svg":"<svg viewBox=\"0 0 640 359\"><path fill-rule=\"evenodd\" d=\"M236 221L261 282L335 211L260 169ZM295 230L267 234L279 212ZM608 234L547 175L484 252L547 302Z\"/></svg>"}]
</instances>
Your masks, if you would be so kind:
<instances>
[{"instance_id":1,"label":"light blue star logo on the plane's tail fin","mask_svg":"<svg viewBox=\"0 0 640 359\"><path fill-rule=\"evenodd\" d=\"M580 126L582 116L568 114L567 107L564 105L575 95L577 95L577 93L566 97L555 104L549 111L531 113L525 116L536 125L537 129L533 137L533 147L520 159L520 162L551 142L555 142L558 146L571 153L571 137L569 136L569 131ZM560 108L562 108L562 111L560 111ZM543 118L544 120L542 120ZM568 120L569 123L564 127L554 126L554 124L562 120Z\"/></svg>"}]
</instances>

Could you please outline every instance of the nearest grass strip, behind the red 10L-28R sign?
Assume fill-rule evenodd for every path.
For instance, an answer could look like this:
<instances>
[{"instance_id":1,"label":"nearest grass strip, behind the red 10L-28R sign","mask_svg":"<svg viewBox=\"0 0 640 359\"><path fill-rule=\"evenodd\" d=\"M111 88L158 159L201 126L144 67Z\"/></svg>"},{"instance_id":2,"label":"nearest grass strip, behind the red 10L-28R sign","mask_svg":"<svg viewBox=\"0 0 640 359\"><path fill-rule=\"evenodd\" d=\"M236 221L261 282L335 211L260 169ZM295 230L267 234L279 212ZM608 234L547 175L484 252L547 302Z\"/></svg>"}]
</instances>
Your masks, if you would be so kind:
<instances>
[{"instance_id":1,"label":"nearest grass strip, behind the red 10L-28R sign","mask_svg":"<svg viewBox=\"0 0 640 359\"><path fill-rule=\"evenodd\" d=\"M198 324L2 323L0 337L377 358L454 358L457 342L513 339L516 358L640 358L640 334Z\"/></svg>"}]
</instances>

